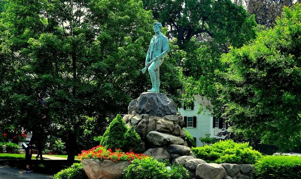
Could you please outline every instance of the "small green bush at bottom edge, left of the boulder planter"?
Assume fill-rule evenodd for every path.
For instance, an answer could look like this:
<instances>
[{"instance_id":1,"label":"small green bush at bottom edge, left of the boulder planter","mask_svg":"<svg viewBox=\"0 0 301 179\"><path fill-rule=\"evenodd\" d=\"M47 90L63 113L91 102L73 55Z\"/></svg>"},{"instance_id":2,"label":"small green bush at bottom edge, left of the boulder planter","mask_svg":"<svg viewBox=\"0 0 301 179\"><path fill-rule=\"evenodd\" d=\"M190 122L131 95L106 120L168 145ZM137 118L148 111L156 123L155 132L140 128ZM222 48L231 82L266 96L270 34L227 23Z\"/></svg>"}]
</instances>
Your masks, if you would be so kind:
<instances>
[{"instance_id":1,"label":"small green bush at bottom edge, left of the boulder planter","mask_svg":"<svg viewBox=\"0 0 301 179\"><path fill-rule=\"evenodd\" d=\"M69 168L63 169L54 175L54 179L88 179L82 163L73 163Z\"/></svg>"}]
</instances>

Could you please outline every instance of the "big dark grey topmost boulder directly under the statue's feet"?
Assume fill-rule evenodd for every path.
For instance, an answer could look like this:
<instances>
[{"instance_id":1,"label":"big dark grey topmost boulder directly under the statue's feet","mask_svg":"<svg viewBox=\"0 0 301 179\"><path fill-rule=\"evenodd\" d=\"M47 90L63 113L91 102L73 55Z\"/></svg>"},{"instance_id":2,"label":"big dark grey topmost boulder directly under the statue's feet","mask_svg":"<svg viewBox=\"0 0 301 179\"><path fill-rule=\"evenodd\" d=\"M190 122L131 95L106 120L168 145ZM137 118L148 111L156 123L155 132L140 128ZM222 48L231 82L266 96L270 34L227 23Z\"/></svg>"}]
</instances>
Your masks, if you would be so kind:
<instances>
[{"instance_id":1,"label":"big dark grey topmost boulder directly under the statue's feet","mask_svg":"<svg viewBox=\"0 0 301 179\"><path fill-rule=\"evenodd\" d=\"M164 93L156 92L143 92L138 98L132 100L128 105L128 113L133 110L139 114L159 117L177 115L175 102Z\"/></svg>"}]
</instances>

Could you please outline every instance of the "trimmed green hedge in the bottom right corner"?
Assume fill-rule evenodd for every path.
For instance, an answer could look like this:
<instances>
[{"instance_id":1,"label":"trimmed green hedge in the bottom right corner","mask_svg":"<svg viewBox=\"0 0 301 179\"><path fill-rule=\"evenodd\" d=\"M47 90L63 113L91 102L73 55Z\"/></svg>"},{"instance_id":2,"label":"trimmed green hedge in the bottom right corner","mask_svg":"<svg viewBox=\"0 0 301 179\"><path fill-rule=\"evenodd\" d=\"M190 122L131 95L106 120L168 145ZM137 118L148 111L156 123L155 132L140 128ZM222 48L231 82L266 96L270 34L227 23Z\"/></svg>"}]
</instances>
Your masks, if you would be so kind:
<instances>
[{"instance_id":1,"label":"trimmed green hedge in the bottom right corner","mask_svg":"<svg viewBox=\"0 0 301 179\"><path fill-rule=\"evenodd\" d=\"M254 164L258 179L265 178L301 178L301 157L268 155Z\"/></svg>"}]
</instances>

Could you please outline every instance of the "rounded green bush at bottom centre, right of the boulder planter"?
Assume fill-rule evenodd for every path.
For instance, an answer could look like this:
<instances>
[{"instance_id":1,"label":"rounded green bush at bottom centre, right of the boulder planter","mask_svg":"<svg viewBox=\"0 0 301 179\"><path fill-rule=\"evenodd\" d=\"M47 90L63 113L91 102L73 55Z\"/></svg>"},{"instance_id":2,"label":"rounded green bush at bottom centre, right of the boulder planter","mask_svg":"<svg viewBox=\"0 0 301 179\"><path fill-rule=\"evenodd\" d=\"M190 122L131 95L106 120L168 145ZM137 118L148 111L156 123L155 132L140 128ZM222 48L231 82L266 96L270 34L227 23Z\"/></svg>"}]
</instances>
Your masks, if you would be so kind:
<instances>
[{"instance_id":1,"label":"rounded green bush at bottom centre, right of the boulder planter","mask_svg":"<svg viewBox=\"0 0 301 179\"><path fill-rule=\"evenodd\" d=\"M172 165L171 169L167 168L170 163L160 162L153 157L143 159L134 159L128 165L122 176L124 179L150 179L150 178L191 178L188 170L183 165Z\"/></svg>"}]
</instances>

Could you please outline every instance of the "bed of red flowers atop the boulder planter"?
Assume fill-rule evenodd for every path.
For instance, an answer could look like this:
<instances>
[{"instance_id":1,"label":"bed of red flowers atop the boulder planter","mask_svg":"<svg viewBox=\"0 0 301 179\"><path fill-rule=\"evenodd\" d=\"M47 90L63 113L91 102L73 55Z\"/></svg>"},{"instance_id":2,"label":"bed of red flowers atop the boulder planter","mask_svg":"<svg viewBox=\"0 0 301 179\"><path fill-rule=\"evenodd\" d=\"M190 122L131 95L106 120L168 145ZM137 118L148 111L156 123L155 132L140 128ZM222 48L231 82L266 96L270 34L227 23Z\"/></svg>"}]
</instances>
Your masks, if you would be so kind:
<instances>
[{"instance_id":1,"label":"bed of red flowers atop the boulder planter","mask_svg":"<svg viewBox=\"0 0 301 179\"><path fill-rule=\"evenodd\" d=\"M120 148L116 148L114 152L112 152L112 149L106 149L105 146L98 145L96 147L93 147L89 150L82 150L82 153L78 154L78 159L109 159L112 161L129 161L131 162L133 159L138 158L146 158L146 156L143 153L134 153L130 150L130 152L123 152L120 150Z\"/></svg>"}]
</instances>

